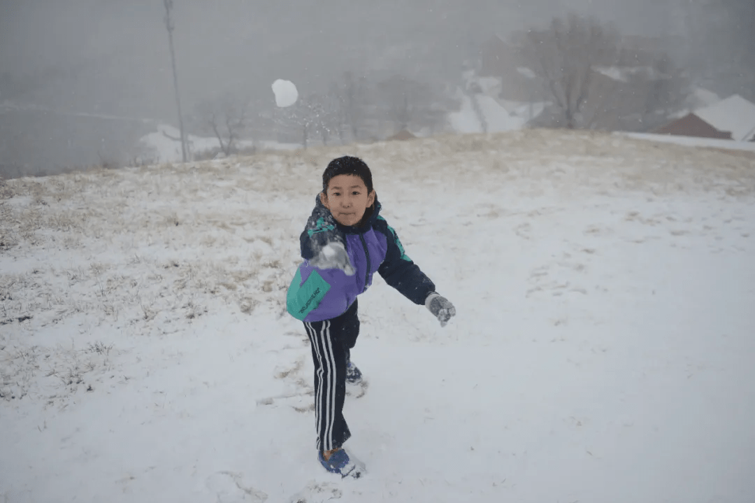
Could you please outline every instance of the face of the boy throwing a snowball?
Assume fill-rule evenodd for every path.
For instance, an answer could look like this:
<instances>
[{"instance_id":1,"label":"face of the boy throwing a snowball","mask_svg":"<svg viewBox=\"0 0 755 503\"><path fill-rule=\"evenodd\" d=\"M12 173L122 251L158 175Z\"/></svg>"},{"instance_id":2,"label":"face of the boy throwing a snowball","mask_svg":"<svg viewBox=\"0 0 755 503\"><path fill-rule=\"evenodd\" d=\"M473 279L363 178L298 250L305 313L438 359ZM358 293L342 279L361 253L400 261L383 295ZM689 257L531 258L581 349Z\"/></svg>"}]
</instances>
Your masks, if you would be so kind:
<instances>
[{"instance_id":1,"label":"face of the boy throwing a snowball","mask_svg":"<svg viewBox=\"0 0 755 503\"><path fill-rule=\"evenodd\" d=\"M356 174L339 174L328 183L328 192L320 194L320 201L341 224L359 224L365 211L375 202L375 191L367 193L367 186Z\"/></svg>"}]
</instances>

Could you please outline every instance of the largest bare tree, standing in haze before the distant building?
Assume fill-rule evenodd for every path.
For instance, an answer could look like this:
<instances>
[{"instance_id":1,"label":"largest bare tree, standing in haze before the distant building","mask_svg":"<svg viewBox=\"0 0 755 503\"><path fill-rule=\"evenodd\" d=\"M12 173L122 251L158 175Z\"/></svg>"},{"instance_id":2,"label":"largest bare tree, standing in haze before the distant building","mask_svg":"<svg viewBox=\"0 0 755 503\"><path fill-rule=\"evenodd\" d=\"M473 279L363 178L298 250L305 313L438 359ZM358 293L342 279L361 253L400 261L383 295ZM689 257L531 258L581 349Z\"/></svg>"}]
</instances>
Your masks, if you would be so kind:
<instances>
[{"instance_id":1,"label":"largest bare tree, standing in haze before the distant building","mask_svg":"<svg viewBox=\"0 0 755 503\"><path fill-rule=\"evenodd\" d=\"M591 119L584 117L583 109L595 88L596 67L618 63L618 33L593 18L570 14L565 20L554 19L547 29L529 30L519 43L523 60L559 110L559 122L567 128L587 127ZM605 100L610 93L601 89L596 97Z\"/></svg>"}]
</instances>

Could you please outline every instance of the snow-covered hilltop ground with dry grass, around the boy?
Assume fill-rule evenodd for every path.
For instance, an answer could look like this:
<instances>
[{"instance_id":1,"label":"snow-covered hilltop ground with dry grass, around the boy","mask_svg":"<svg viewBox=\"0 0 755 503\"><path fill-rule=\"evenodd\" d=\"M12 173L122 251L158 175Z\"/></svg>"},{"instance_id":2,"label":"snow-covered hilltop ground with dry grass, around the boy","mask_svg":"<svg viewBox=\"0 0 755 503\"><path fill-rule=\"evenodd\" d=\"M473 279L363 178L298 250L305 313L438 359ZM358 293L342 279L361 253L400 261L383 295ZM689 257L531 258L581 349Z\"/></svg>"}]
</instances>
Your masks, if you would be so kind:
<instances>
[{"instance_id":1,"label":"snow-covered hilltop ground with dry grass, around the boy","mask_svg":"<svg viewBox=\"0 0 755 503\"><path fill-rule=\"evenodd\" d=\"M360 299L361 480L316 461L284 308L344 153L458 311ZM4 503L755 501L753 159L532 130L0 194Z\"/></svg>"}]
</instances>

